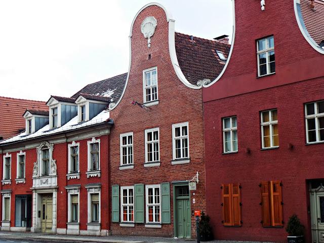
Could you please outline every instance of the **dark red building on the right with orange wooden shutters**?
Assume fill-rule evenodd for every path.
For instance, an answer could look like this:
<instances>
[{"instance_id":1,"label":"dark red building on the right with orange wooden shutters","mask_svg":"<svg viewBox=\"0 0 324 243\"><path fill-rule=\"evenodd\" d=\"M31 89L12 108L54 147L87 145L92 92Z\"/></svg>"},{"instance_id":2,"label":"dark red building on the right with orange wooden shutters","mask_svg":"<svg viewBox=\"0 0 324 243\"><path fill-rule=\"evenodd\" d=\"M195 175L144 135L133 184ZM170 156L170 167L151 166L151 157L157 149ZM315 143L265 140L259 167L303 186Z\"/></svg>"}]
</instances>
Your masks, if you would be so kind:
<instances>
[{"instance_id":1,"label":"dark red building on the right with orange wooden shutters","mask_svg":"<svg viewBox=\"0 0 324 243\"><path fill-rule=\"evenodd\" d=\"M265 4L233 1L227 67L203 90L207 213L217 239L284 242L297 214L323 242L324 2Z\"/></svg>"}]
</instances>

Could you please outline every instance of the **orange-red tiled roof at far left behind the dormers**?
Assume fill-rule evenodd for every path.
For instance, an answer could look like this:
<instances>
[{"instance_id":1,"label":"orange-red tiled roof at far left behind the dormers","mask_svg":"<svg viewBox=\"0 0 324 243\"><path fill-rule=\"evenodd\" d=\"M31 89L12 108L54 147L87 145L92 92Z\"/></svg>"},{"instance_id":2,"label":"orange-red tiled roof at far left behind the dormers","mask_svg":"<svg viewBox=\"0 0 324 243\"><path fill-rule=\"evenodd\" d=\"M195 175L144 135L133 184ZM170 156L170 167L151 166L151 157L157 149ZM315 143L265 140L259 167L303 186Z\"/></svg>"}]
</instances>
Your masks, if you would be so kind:
<instances>
[{"instance_id":1,"label":"orange-red tiled roof at far left behind the dormers","mask_svg":"<svg viewBox=\"0 0 324 243\"><path fill-rule=\"evenodd\" d=\"M0 96L0 137L10 138L25 129L22 114L26 109L48 110L44 101L14 99Z\"/></svg>"}]
</instances>

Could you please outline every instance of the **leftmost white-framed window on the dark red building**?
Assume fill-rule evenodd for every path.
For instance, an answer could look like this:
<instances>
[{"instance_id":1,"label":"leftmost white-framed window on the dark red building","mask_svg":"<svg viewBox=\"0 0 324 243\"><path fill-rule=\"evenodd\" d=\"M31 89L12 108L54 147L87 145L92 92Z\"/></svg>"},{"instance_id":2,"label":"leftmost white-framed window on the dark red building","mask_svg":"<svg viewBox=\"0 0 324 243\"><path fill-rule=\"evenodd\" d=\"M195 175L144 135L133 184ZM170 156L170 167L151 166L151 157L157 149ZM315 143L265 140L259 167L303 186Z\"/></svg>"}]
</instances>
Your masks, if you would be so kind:
<instances>
[{"instance_id":1,"label":"leftmost white-framed window on the dark red building","mask_svg":"<svg viewBox=\"0 0 324 243\"><path fill-rule=\"evenodd\" d=\"M224 153L237 151L237 121L236 116L223 118Z\"/></svg>"}]
</instances>

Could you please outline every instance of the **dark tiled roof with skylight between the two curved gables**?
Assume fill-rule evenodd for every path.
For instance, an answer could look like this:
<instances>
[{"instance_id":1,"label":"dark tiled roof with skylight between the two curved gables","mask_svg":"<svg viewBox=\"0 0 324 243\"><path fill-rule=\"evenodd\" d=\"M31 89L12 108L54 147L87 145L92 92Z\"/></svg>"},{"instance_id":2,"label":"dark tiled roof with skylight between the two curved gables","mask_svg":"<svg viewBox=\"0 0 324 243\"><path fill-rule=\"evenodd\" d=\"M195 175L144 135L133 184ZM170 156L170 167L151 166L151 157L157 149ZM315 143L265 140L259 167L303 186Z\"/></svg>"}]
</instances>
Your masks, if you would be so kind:
<instances>
[{"instance_id":1,"label":"dark tiled roof with skylight between the two curved gables","mask_svg":"<svg viewBox=\"0 0 324 243\"><path fill-rule=\"evenodd\" d=\"M176 53L179 66L186 79L193 85L205 78L213 81L223 70L225 61L221 61L216 51L227 58L230 45L209 39L175 33Z\"/></svg>"}]
</instances>

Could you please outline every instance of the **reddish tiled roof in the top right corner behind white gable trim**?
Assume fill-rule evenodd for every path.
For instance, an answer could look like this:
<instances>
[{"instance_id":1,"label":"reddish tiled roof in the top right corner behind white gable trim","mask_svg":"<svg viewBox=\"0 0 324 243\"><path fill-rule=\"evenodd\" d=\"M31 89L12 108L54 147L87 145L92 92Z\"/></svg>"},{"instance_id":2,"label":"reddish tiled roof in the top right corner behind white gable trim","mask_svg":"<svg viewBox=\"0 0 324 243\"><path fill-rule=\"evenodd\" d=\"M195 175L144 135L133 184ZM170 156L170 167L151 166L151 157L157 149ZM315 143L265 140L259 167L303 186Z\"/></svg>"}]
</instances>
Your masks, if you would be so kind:
<instances>
[{"instance_id":1,"label":"reddish tiled roof in the top right corner behind white gable trim","mask_svg":"<svg viewBox=\"0 0 324 243\"><path fill-rule=\"evenodd\" d=\"M310 0L300 0L300 7L306 29L319 45L324 40L324 1L315 0L315 8L310 7Z\"/></svg>"}]
</instances>

